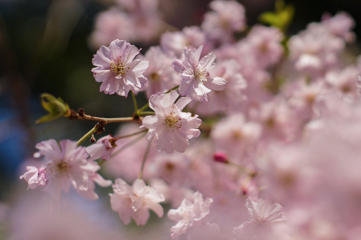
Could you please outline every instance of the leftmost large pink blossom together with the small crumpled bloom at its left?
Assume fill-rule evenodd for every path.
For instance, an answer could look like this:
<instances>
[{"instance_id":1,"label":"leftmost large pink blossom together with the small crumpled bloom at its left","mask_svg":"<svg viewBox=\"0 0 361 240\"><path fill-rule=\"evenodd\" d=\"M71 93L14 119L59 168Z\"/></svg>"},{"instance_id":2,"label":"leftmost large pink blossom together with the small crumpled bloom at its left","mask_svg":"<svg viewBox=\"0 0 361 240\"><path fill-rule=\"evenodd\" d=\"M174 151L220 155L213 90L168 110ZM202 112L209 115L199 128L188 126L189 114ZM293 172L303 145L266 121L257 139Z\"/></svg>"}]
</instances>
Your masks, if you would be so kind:
<instances>
[{"instance_id":1,"label":"leftmost large pink blossom together with the small crumpled bloom at its left","mask_svg":"<svg viewBox=\"0 0 361 240\"><path fill-rule=\"evenodd\" d=\"M98 199L94 192L97 182L101 186L110 186L112 181L104 180L98 173L100 167L94 161L87 160L88 154L84 147L78 147L77 142L62 140L60 146L54 139L40 142L36 145L39 152L34 156L44 156L45 163L35 173L35 167L28 167L29 172L22 177L27 180L33 173L32 179L37 184L46 184L44 191L49 192L54 198L60 198L61 192L67 193L72 185L80 195L88 199ZM29 180L30 178L28 178ZM40 182L39 182L40 181ZM29 182L29 187L32 187ZM36 187L36 186L35 186ZM34 187L34 188L35 188Z\"/></svg>"}]
</instances>

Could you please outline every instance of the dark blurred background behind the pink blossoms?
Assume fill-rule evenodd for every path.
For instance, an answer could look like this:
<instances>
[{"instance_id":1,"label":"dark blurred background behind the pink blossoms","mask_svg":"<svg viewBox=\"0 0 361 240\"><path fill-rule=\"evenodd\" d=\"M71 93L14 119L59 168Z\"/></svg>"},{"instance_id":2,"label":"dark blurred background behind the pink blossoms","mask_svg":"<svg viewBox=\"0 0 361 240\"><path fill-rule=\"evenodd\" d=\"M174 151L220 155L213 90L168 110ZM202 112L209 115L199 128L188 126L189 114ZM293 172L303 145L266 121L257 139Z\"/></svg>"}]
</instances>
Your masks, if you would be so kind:
<instances>
[{"instance_id":1,"label":"dark blurred background behind the pink blossoms","mask_svg":"<svg viewBox=\"0 0 361 240\"><path fill-rule=\"evenodd\" d=\"M249 26L258 16L274 9L273 0L239 1L246 9ZM182 29L200 25L208 10L208 0L160 0L165 22ZM361 22L359 0L287 0L295 6L295 17L288 30L295 34L312 21L320 21L324 12L340 10ZM39 94L61 97L71 108L84 108L99 117L126 117L132 113L130 97L99 92L91 72L96 49L89 47L89 35L97 13L112 5L109 0L0 0L0 200L5 188L19 176L19 166L31 157L41 140L78 140L95 124L61 118L35 125L45 114ZM119 23L121 24L121 23ZM126 26L125 26L126 27ZM361 27L356 25L360 37ZM142 53L148 46L143 47ZM355 51L357 47L353 46ZM357 52L358 53L358 52ZM147 100L140 96L139 105ZM118 125L107 125L113 133ZM99 136L100 137L100 136ZM25 171L25 168L20 170ZM5 187L6 186L6 187Z\"/></svg>"}]
</instances>

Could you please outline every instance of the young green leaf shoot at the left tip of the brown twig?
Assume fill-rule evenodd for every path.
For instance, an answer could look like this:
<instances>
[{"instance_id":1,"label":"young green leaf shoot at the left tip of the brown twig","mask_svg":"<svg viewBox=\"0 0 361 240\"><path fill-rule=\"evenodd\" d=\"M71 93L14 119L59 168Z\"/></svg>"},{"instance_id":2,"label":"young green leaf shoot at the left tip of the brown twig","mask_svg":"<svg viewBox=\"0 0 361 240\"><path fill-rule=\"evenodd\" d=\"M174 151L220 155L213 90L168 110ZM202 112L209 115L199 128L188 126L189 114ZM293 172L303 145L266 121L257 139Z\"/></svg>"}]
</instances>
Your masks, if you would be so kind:
<instances>
[{"instance_id":1,"label":"young green leaf shoot at the left tip of the brown twig","mask_svg":"<svg viewBox=\"0 0 361 240\"><path fill-rule=\"evenodd\" d=\"M60 117L69 117L71 110L68 104L61 98L56 98L50 93L42 93L40 95L43 108L49 113L38 119L36 123L44 123L52 121Z\"/></svg>"}]
</instances>

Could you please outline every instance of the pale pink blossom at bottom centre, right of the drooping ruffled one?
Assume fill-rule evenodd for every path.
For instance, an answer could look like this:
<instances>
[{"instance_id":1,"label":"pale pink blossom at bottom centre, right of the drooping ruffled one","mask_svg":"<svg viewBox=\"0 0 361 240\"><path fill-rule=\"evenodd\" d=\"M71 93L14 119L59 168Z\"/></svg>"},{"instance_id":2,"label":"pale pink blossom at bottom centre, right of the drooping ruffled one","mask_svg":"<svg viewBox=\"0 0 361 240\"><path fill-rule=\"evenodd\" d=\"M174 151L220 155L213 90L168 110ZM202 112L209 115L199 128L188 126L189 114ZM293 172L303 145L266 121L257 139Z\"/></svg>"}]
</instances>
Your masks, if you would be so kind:
<instances>
[{"instance_id":1,"label":"pale pink blossom at bottom centre, right of the drooping ruffled one","mask_svg":"<svg viewBox=\"0 0 361 240\"><path fill-rule=\"evenodd\" d=\"M209 206L213 202L212 198L203 199L202 194L197 191L193 194L193 202L183 199L178 209L170 209L168 218L178 221L171 230L171 237L177 238L186 233L187 229L192 227L194 221L199 221L209 214Z\"/></svg>"}]
</instances>

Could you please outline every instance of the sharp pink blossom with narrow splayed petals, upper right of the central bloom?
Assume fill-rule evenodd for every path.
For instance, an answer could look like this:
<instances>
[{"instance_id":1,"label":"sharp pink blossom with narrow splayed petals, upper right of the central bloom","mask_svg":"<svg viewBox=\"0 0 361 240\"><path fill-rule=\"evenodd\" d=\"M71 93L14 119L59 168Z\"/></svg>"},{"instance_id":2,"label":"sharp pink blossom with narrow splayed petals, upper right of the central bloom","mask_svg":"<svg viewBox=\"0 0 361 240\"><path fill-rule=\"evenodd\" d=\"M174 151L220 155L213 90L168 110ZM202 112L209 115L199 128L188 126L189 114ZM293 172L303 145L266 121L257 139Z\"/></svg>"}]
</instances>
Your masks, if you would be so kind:
<instances>
[{"instance_id":1,"label":"sharp pink blossom with narrow splayed petals, upper right of the central bloom","mask_svg":"<svg viewBox=\"0 0 361 240\"><path fill-rule=\"evenodd\" d=\"M211 52L200 58L203 46L198 49L184 47L182 60L175 59L172 63L174 71L179 73L183 81L179 85L179 93L182 96L190 96L193 91L200 97L201 102L208 102L208 93L212 90L223 90L226 80L221 77L211 77L209 70L215 66L216 55Z\"/></svg>"}]
</instances>

